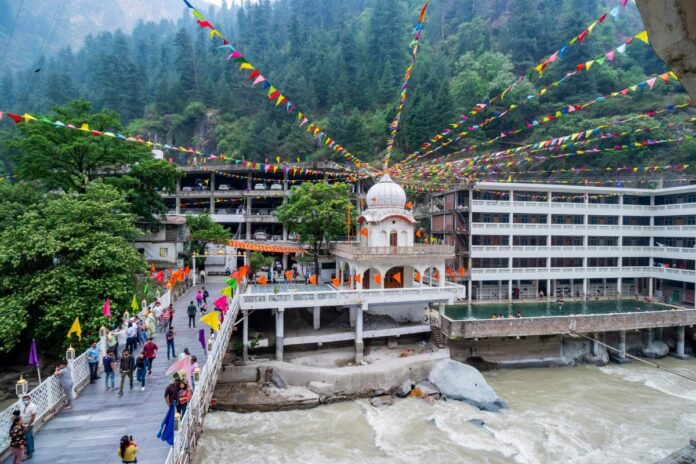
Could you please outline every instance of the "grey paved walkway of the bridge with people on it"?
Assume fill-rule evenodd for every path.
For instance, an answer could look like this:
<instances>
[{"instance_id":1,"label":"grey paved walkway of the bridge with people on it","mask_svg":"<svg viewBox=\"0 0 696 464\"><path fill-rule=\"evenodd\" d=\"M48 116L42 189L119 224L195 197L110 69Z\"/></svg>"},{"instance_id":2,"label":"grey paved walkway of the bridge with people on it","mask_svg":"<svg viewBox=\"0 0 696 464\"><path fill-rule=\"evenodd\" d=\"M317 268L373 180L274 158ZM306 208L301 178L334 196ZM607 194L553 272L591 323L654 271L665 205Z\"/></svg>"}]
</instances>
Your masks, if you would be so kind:
<instances>
[{"instance_id":1,"label":"grey paved walkway of the bridge with people on it","mask_svg":"<svg viewBox=\"0 0 696 464\"><path fill-rule=\"evenodd\" d=\"M212 301L219 296L218 292L223 285L212 282L206 285L210 292L209 307L213 306ZM209 329L207 325L198 322L195 329L189 329L186 316L186 307L191 300L195 300L199 288L200 285L194 287L174 303L174 328L177 332L176 353L179 354L184 348L188 348L190 353L198 358L198 364L203 367L206 353L198 341L198 329L204 328L206 333ZM196 319L199 318L200 313ZM80 392L79 397L73 401L72 409L60 411L36 433L36 451L31 461L27 462L117 463L120 460L116 456L116 449L123 435L133 435L140 448L138 462L164 462L169 453L169 445L157 438L157 431L167 412L164 389L169 383L169 378L164 372L173 361L167 361L164 334L157 334L154 341L159 351L152 376L147 379L145 391L140 391L139 386L129 391L126 379L124 395L119 397L117 390L104 391L102 376L95 384L88 385ZM119 381L117 374L117 388Z\"/></svg>"}]
</instances>

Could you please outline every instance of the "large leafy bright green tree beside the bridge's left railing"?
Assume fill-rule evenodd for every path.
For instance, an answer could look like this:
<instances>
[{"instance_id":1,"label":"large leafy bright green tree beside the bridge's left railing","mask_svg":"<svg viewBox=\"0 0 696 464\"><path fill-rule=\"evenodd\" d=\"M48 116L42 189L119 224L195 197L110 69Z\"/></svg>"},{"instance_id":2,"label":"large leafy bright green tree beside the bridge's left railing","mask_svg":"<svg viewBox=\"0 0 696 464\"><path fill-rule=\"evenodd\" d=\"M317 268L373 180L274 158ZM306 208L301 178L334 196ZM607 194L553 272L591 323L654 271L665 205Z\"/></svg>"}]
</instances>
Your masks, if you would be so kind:
<instances>
[{"instance_id":1,"label":"large leafy bright green tree beside the bridge's left railing","mask_svg":"<svg viewBox=\"0 0 696 464\"><path fill-rule=\"evenodd\" d=\"M0 184L0 215L16 216L0 229L0 353L36 338L58 354L76 317L81 347L107 324L105 298L115 317L128 310L145 261L131 246L138 230L122 192L93 182L32 199L28 187Z\"/></svg>"}]
</instances>

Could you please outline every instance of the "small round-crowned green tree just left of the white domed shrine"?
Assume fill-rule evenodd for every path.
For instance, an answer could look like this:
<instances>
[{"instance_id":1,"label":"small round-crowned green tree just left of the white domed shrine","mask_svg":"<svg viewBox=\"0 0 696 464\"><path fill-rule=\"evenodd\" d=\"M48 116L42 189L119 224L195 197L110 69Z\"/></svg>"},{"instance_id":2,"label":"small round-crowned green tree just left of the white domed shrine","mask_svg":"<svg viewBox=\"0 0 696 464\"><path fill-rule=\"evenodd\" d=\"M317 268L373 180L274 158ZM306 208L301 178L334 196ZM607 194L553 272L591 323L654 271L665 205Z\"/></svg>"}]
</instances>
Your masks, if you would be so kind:
<instances>
[{"instance_id":1,"label":"small round-crowned green tree just left of the white domed shrine","mask_svg":"<svg viewBox=\"0 0 696 464\"><path fill-rule=\"evenodd\" d=\"M310 246L318 272L322 246L345 235L350 208L348 184L306 183L292 188L288 201L276 209L276 217ZM355 215L354 209L350 211Z\"/></svg>"}]
</instances>

